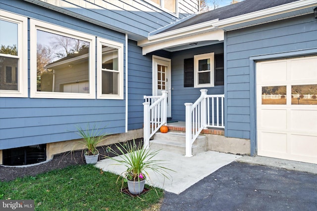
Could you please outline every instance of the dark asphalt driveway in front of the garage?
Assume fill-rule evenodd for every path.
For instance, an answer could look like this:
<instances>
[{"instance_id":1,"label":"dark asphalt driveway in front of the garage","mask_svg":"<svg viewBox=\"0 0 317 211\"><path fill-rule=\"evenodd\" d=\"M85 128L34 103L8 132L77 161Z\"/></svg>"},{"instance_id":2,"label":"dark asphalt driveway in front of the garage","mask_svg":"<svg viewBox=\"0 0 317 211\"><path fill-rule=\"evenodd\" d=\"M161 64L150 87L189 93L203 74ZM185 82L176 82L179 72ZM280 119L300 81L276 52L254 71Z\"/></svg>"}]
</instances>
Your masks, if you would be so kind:
<instances>
[{"instance_id":1,"label":"dark asphalt driveway in front of the garage","mask_svg":"<svg viewBox=\"0 0 317 211\"><path fill-rule=\"evenodd\" d=\"M317 211L317 174L232 162L165 192L160 211Z\"/></svg>"}]
</instances>

